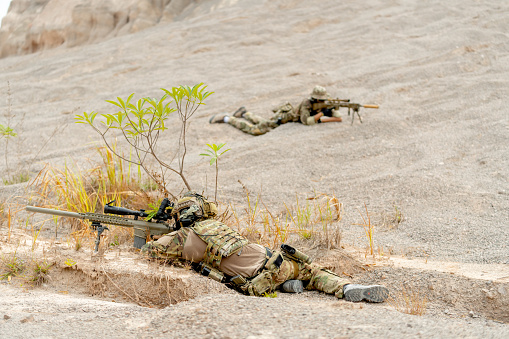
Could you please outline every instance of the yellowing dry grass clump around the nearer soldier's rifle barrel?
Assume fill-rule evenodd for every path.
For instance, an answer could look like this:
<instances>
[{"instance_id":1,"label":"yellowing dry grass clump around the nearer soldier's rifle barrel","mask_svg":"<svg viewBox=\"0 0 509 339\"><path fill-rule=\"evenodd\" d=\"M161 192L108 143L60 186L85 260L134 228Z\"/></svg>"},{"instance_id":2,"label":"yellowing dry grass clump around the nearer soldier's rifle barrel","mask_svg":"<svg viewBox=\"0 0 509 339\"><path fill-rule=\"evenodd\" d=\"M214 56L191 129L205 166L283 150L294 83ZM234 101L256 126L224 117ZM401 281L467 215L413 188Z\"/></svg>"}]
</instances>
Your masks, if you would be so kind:
<instances>
[{"instance_id":1,"label":"yellowing dry grass clump around the nearer soldier's rifle barrel","mask_svg":"<svg viewBox=\"0 0 509 339\"><path fill-rule=\"evenodd\" d=\"M98 148L97 152L102 162L90 170L82 170L77 164L66 164L63 169L47 165L30 183L35 191L31 200L42 207L78 213L102 213L104 206L113 200L134 210L146 209L149 203L157 201L160 192L152 190L155 186L142 177L140 168L119 159L105 147ZM88 221L60 218L62 222L71 226L73 232L68 236L68 243L76 250L93 243L95 233ZM117 246L133 239L132 229L108 228L108 245ZM55 233L57 230L58 224Z\"/></svg>"}]
</instances>

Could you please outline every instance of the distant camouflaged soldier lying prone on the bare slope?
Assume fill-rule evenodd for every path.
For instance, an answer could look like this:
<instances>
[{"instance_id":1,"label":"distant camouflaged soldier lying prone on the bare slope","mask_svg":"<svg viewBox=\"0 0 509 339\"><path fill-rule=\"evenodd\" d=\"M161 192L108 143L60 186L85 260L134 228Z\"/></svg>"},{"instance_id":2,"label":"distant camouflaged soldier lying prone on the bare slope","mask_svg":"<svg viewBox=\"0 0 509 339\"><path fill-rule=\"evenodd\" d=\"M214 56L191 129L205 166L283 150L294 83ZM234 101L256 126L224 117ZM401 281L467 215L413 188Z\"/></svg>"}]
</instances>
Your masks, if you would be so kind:
<instances>
[{"instance_id":1,"label":"distant camouflaged soldier lying prone on the bare slope","mask_svg":"<svg viewBox=\"0 0 509 339\"><path fill-rule=\"evenodd\" d=\"M248 112L245 107L241 107L233 113L233 116L226 113L217 114L212 116L209 122L211 124L228 123L242 132L251 135L261 135L287 122L301 122L304 125L315 125L321 122L342 121L339 111L330 107L316 105L323 104L329 98L330 96L325 88L315 86L310 98L304 99L297 107L293 107L287 102L273 109L274 115L270 119L264 119Z\"/></svg>"}]
</instances>

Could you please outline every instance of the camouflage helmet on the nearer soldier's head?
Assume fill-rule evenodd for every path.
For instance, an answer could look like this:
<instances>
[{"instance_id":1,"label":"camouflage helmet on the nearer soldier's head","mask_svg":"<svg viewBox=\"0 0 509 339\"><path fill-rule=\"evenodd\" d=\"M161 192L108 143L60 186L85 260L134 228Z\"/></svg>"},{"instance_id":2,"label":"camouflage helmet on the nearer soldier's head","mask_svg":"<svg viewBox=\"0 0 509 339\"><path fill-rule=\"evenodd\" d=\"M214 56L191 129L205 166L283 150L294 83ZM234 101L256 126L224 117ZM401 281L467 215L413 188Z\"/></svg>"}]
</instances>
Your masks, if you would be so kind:
<instances>
[{"instance_id":1,"label":"camouflage helmet on the nearer soldier's head","mask_svg":"<svg viewBox=\"0 0 509 339\"><path fill-rule=\"evenodd\" d=\"M188 227L195 221L215 217L217 206L203 195L189 191L177 201L172 213L178 226Z\"/></svg>"}]
</instances>

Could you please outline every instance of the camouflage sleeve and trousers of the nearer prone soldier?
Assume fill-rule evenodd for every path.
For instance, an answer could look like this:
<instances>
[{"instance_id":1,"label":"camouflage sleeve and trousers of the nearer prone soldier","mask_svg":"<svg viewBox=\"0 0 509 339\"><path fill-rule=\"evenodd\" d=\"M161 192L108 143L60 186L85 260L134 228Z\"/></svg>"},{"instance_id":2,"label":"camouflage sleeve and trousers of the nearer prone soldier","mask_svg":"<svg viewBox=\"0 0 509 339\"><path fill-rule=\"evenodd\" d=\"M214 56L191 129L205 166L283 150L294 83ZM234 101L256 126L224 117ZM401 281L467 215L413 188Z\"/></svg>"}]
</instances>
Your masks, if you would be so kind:
<instances>
[{"instance_id":1,"label":"camouflage sleeve and trousers of the nearer prone soldier","mask_svg":"<svg viewBox=\"0 0 509 339\"><path fill-rule=\"evenodd\" d=\"M204 222L209 225L215 224L218 227L224 226L224 224L213 219L205 220ZM178 231L163 236L157 241L147 243L142 251L149 251L153 257L184 259L198 263L202 261L203 257L206 255L202 258L186 258L184 255L184 245L190 237L191 232L193 232L191 227L181 228ZM249 244L246 246L249 246ZM318 265L291 260L288 257L282 256L279 251L271 252L261 246L259 247L262 248L260 256L262 256L262 258L266 256L265 262L258 265L259 268L256 269L253 274L239 274L242 276L242 283L230 283L232 287L243 293L250 295L271 293L285 281L297 279L307 283L306 289L315 289L328 294L334 294L337 298L342 298L343 286L351 283L347 279L343 279ZM239 252L242 253L243 249L244 247L240 248L233 253L231 257L236 259L236 254ZM282 261L279 262L279 266L271 262L271 259L274 258L282 259ZM218 266L217 268L223 269L222 266ZM226 271L226 269L224 270ZM228 273L230 275L236 275L238 272L228 271Z\"/></svg>"}]
</instances>

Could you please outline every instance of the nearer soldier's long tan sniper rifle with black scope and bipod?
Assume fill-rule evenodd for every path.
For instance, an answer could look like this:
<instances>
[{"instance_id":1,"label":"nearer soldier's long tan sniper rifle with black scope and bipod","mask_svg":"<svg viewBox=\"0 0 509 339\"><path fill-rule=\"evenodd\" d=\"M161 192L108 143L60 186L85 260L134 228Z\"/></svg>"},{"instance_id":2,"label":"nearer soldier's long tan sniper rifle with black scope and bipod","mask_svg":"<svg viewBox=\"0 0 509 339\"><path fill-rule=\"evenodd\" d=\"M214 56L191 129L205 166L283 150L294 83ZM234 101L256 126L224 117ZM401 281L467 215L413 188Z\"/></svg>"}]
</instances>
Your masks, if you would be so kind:
<instances>
[{"instance_id":1,"label":"nearer soldier's long tan sniper rifle with black scope and bipod","mask_svg":"<svg viewBox=\"0 0 509 339\"><path fill-rule=\"evenodd\" d=\"M134 244L136 248L141 248L147 242L149 237L154 235L163 235L178 229L175 224L170 224L169 220L172 218L171 212L173 210L173 203L164 198L159 206L157 212L149 218L149 214L145 213L144 210L134 211L123 207L111 206L115 200L110 201L104 206L104 213L75 213L68 211L59 211L50 208L27 206L26 210L29 212L51 214L60 217L77 218L82 220L90 220L92 227L97 231L97 238L95 240L95 249L99 250L99 243L101 242L101 234L108 230L108 227L103 224L132 227L134 229ZM116 215L111 215L116 214ZM134 218L119 217L117 215L133 216ZM148 220L138 220L138 218L147 218Z\"/></svg>"}]
</instances>

